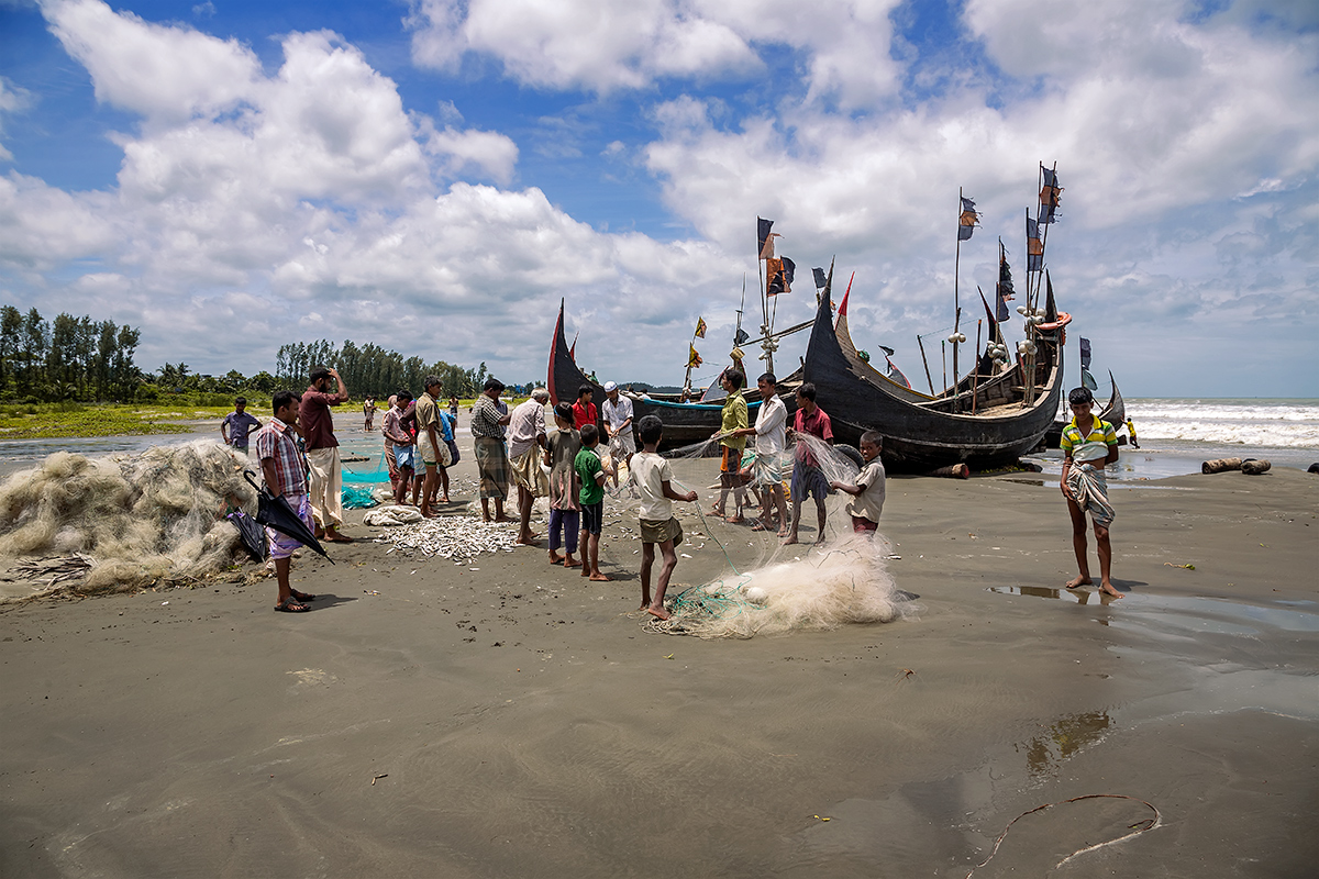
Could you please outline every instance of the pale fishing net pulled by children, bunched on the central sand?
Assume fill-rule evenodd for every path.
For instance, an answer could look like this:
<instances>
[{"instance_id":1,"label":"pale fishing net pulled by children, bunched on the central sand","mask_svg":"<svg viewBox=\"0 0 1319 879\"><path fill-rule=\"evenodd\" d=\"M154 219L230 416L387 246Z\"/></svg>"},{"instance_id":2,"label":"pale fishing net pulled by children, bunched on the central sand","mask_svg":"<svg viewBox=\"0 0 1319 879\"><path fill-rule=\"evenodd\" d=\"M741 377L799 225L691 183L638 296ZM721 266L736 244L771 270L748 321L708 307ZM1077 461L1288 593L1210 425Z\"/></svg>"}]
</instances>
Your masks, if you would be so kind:
<instances>
[{"instance_id":1,"label":"pale fishing net pulled by children, bunched on the central sand","mask_svg":"<svg viewBox=\"0 0 1319 879\"><path fill-rule=\"evenodd\" d=\"M683 457L699 457L702 451L699 445L682 449ZM790 445L773 465L790 477L802 453L815 461L828 482L856 480L859 467L852 457L814 436L798 435L797 445ZM674 488L687 490L678 482ZM649 621L645 629L698 638L752 638L893 622L918 613L886 569L888 540L878 534L853 534L844 502L845 496L828 496L826 534L819 535L816 551L798 559L805 547L783 547L774 539L756 567L739 572L729 560L729 575L678 593L667 606L670 618ZM802 506L802 518L814 519L814 502L807 499ZM794 557L786 559L789 553Z\"/></svg>"}]
</instances>

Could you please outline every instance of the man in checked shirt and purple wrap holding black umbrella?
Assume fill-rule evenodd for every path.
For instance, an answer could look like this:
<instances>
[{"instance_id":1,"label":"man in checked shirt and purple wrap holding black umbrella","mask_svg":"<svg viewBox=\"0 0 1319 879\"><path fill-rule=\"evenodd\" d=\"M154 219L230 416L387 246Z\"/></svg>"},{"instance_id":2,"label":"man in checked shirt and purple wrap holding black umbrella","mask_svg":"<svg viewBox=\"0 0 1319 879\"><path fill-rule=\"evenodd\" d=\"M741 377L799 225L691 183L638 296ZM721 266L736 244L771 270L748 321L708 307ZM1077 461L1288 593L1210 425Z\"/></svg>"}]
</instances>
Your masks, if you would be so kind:
<instances>
[{"instance_id":1,"label":"man in checked shirt and purple wrap holding black umbrella","mask_svg":"<svg viewBox=\"0 0 1319 879\"><path fill-rule=\"evenodd\" d=\"M270 399L274 418L256 435L256 455L261 461L261 474L265 488L274 497L282 497L302 523L315 527L311 518L311 497L307 494L307 474L302 469L298 444L294 441L298 424L298 395L290 390L276 391ZM270 559L274 560L274 577L280 592L274 609L284 613L305 613L311 610L305 602L315 596L298 592L289 585L289 559L302 544L293 538L265 530L270 543Z\"/></svg>"}]
</instances>

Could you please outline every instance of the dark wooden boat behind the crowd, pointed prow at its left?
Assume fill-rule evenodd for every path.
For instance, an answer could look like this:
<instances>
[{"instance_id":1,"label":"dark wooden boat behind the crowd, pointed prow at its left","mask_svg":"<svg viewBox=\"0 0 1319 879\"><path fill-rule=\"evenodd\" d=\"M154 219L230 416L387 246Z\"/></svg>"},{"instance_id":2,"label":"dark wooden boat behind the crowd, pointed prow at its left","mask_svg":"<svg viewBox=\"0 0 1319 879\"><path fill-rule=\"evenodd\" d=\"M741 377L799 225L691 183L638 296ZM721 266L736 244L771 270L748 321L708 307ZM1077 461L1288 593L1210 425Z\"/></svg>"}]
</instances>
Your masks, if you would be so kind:
<instances>
[{"instance_id":1,"label":"dark wooden boat behind the crowd, pointed prow at its left","mask_svg":"<svg viewBox=\"0 0 1319 879\"><path fill-rule=\"evenodd\" d=\"M791 378L791 377L790 377ZM797 376L799 380L799 376ZM754 381L754 377L751 377ZM790 380L780 382L783 390ZM563 332L563 303L559 303L559 319L554 326L554 343L550 345L550 374L547 390L554 403L575 403L578 391L583 386L590 386L591 401L599 407L604 399L604 387L591 381L572 356ZM760 390L752 383L743 391L747 398L747 409L751 423L756 423L756 412L760 409ZM691 445L710 439L719 432L723 420L723 403L682 402L677 394L633 394L628 393L632 401L632 423L638 424L645 415L657 415L663 422L663 443L661 449ZM786 402L786 399L785 399ZM789 406L791 410L793 407ZM637 447L640 448L640 439Z\"/></svg>"}]
</instances>

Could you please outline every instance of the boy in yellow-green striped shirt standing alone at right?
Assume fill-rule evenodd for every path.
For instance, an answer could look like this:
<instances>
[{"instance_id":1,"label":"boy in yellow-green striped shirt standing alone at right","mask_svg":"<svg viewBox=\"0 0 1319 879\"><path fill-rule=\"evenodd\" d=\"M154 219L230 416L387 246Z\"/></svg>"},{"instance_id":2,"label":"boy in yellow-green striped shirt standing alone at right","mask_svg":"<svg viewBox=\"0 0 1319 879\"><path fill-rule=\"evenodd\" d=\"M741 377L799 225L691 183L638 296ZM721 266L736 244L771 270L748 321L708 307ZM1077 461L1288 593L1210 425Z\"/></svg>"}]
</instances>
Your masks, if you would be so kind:
<instances>
[{"instance_id":1,"label":"boy in yellow-green striped shirt standing alone at right","mask_svg":"<svg viewBox=\"0 0 1319 879\"><path fill-rule=\"evenodd\" d=\"M1095 522L1095 546L1099 550L1099 590L1121 598L1113 588L1109 572L1113 547L1108 539L1108 526L1113 523L1113 505L1108 502L1108 480L1104 468L1117 461L1117 434L1113 426L1091 414L1095 398L1086 387L1067 394L1072 419L1063 428L1059 448L1063 451L1063 497L1072 519L1072 551L1076 553L1079 576L1067 581L1068 589L1093 582L1086 560L1086 514Z\"/></svg>"}]
</instances>

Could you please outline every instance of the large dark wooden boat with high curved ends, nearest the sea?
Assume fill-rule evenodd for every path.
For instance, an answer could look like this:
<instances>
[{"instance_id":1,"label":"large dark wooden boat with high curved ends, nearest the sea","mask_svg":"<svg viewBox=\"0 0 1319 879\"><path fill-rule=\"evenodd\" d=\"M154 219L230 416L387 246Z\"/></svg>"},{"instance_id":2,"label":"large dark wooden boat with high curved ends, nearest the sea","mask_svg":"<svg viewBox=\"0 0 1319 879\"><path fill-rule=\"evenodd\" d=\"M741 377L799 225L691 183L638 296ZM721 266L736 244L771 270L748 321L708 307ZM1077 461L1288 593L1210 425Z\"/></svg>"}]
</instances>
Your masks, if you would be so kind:
<instances>
[{"instance_id":1,"label":"large dark wooden boat with high curved ends, nearest the sea","mask_svg":"<svg viewBox=\"0 0 1319 879\"><path fill-rule=\"evenodd\" d=\"M1034 394L1028 402L1021 361L997 374L988 364L977 364L977 373L983 369L985 377L969 385L959 382L955 393L938 398L893 382L857 356L845 319L835 327L831 287L832 273L820 294L803 381L815 385L816 402L832 419L838 441L856 444L864 431L878 431L885 465L917 473L960 463L972 469L1014 464L1039 444L1058 411L1063 386L1059 345L1071 320L1058 312L1053 289L1045 323L1034 333Z\"/></svg>"}]
</instances>

